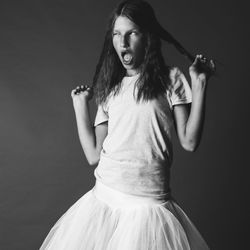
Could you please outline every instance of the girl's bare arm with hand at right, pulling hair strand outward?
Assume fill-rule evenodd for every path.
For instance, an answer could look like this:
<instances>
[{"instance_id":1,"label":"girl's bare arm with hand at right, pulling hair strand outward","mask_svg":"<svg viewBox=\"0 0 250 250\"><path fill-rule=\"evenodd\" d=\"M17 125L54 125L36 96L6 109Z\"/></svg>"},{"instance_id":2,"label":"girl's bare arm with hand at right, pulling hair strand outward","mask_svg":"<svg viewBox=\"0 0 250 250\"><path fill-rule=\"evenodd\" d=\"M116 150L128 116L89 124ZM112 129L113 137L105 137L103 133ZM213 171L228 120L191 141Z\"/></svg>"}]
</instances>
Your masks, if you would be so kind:
<instances>
[{"instance_id":1,"label":"girl's bare arm with hand at right, pulling hair strand outward","mask_svg":"<svg viewBox=\"0 0 250 250\"><path fill-rule=\"evenodd\" d=\"M201 60L197 56L189 68L192 88L191 108L185 104L174 106L174 119L179 141L185 150L191 152L199 146L205 120L206 89L210 71L201 67ZM214 68L212 61L210 64L209 66Z\"/></svg>"}]
</instances>

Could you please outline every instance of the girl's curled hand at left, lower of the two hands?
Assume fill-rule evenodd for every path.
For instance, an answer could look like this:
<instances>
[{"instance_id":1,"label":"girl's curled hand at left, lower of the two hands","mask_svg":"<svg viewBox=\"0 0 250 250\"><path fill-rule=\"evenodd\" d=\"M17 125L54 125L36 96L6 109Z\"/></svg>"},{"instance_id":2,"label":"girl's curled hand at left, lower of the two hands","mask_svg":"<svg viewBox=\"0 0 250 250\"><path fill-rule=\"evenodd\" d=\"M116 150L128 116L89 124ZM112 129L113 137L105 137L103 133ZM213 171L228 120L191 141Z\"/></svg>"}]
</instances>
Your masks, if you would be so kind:
<instances>
[{"instance_id":1,"label":"girl's curled hand at left, lower of the two hands","mask_svg":"<svg viewBox=\"0 0 250 250\"><path fill-rule=\"evenodd\" d=\"M93 97L93 88L88 85L77 86L71 91L74 108L80 108Z\"/></svg>"}]
</instances>

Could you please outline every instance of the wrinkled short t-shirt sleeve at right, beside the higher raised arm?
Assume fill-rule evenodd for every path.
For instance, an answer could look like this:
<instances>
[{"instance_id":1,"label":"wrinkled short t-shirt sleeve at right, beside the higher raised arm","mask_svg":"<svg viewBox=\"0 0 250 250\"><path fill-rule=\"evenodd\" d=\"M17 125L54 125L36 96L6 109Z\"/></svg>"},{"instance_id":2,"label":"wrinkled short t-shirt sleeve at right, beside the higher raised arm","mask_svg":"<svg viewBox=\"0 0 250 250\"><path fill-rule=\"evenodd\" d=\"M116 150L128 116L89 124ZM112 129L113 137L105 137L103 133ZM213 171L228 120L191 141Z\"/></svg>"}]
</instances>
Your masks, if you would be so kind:
<instances>
[{"instance_id":1,"label":"wrinkled short t-shirt sleeve at right, beside the higher raised arm","mask_svg":"<svg viewBox=\"0 0 250 250\"><path fill-rule=\"evenodd\" d=\"M185 75L175 67L170 72L170 80L171 105L191 103L192 91Z\"/></svg>"}]
</instances>

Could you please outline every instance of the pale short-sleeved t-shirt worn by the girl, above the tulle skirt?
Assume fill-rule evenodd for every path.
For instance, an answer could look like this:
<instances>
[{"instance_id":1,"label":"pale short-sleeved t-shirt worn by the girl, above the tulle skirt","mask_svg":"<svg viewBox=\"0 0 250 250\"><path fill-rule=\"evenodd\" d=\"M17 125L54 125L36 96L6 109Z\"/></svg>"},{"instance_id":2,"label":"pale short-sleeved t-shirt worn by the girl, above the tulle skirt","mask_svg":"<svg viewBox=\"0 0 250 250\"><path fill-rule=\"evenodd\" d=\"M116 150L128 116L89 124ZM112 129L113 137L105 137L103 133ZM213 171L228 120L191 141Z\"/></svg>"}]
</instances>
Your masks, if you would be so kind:
<instances>
[{"instance_id":1,"label":"pale short-sleeved t-shirt worn by the girl, above the tulle skirt","mask_svg":"<svg viewBox=\"0 0 250 250\"><path fill-rule=\"evenodd\" d=\"M172 107L192 102L192 92L184 74L172 68L165 95L136 103L138 76L124 77L119 94L98 106L94 126L108 121L108 134L94 174L119 191L162 197L169 192Z\"/></svg>"}]
</instances>

